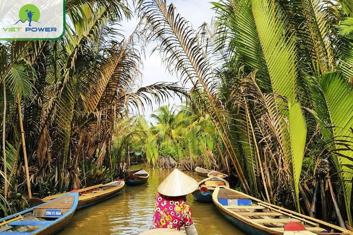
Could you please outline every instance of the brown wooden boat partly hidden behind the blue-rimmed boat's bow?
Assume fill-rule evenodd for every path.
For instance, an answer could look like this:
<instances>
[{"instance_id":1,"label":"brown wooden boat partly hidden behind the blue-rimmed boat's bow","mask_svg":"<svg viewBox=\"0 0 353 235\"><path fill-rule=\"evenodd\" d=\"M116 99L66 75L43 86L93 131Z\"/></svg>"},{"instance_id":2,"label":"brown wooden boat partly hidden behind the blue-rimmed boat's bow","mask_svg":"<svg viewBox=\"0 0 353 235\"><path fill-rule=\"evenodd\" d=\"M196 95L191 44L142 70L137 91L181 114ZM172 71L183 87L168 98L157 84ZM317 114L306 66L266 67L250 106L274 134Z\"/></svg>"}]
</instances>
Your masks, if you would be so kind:
<instances>
[{"instance_id":1,"label":"brown wooden boat partly hidden behind the blue-rimmed boat's bow","mask_svg":"<svg viewBox=\"0 0 353 235\"><path fill-rule=\"evenodd\" d=\"M79 198L78 198L78 206L77 209L83 209L88 206L94 205L96 203L107 200L111 197L114 197L121 193L122 189L125 186L125 182L123 180L113 181L108 184L98 184L95 186L82 188L78 190ZM42 202L48 202L55 198L62 196L62 194L56 194L53 196L49 196L42 199Z\"/></svg>"}]
</instances>

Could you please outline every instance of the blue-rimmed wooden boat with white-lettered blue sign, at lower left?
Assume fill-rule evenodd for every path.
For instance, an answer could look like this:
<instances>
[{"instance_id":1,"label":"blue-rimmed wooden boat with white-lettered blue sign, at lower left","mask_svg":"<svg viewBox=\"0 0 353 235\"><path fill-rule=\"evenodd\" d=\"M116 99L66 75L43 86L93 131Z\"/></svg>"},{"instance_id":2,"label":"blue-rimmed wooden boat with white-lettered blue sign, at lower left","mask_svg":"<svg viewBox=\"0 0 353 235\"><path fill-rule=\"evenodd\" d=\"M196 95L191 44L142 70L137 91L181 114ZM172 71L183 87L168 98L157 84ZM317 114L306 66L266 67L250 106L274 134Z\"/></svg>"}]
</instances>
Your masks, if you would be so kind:
<instances>
[{"instance_id":1,"label":"blue-rimmed wooden boat with white-lettered blue sign, at lower left","mask_svg":"<svg viewBox=\"0 0 353 235\"><path fill-rule=\"evenodd\" d=\"M56 234L70 221L77 205L78 193L66 193L50 202L0 219L0 235Z\"/></svg>"}]
</instances>

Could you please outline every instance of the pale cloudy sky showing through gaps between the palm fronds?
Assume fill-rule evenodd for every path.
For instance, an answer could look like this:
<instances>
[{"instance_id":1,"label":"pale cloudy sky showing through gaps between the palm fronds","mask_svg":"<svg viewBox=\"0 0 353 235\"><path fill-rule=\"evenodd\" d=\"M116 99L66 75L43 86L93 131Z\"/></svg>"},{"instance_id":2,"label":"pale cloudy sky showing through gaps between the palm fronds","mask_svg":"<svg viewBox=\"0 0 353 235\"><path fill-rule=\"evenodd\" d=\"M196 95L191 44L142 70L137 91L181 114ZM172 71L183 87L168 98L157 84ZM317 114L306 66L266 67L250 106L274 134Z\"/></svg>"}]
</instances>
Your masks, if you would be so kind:
<instances>
[{"instance_id":1,"label":"pale cloudy sky showing through gaps between the palm fronds","mask_svg":"<svg viewBox=\"0 0 353 235\"><path fill-rule=\"evenodd\" d=\"M132 0L129 0L132 2ZM173 3L177 7L177 12L181 16L185 17L190 21L194 29L197 29L204 22L210 23L213 11L211 10L212 5L208 0L167 0L168 4ZM122 23L124 27L125 36L130 36L137 24L137 20L130 20ZM161 58L157 52L151 54L151 50L155 45L150 45L146 48L146 58L143 60L144 69L142 71L143 81L142 86L148 86L156 82L178 82L178 78L175 75L170 75L164 68ZM181 100L177 97L171 97L162 105L170 103L180 105ZM153 107L149 107L145 110L144 116L146 120L155 123L155 120L150 118L153 110L158 108L158 104L154 104Z\"/></svg>"}]
</instances>

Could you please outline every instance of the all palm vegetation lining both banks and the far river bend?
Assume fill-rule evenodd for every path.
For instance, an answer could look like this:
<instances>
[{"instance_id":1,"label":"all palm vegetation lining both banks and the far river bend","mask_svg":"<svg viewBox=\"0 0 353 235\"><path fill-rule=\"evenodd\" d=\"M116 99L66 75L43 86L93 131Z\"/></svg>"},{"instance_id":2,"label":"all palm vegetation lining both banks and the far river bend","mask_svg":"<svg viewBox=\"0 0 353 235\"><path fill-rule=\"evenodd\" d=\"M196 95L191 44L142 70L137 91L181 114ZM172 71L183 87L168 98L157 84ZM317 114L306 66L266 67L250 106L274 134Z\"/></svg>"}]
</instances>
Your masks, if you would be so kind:
<instances>
[{"instance_id":1,"label":"all palm vegetation lining both banks and the far river bend","mask_svg":"<svg viewBox=\"0 0 353 235\"><path fill-rule=\"evenodd\" d=\"M213 22L194 29L165 0L136 1L140 22L125 39L113 26L132 17L125 1L68 0L61 41L1 44L5 191L116 177L126 154L143 151L151 165L224 166L252 196L352 225L353 2L210 7ZM149 43L181 87L139 87ZM133 116L172 92L187 101L157 109L156 124Z\"/></svg>"}]
</instances>

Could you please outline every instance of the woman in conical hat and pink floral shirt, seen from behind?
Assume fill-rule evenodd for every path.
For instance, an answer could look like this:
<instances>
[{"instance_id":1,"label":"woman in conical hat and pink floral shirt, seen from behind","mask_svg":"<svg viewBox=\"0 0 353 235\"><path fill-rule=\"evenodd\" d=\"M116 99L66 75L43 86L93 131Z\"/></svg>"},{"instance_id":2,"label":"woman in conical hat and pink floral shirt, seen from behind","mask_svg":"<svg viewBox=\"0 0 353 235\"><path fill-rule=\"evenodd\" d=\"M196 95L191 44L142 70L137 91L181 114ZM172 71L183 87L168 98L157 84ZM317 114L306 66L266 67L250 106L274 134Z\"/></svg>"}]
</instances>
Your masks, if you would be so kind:
<instances>
[{"instance_id":1,"label":"woman in conical hat and pink floral shirt, seen from behind","mask_svg":"<svg viewBox=\"0 0 353 235\"><path fill-rule=\"evenodd\" d=\"M195 179L174 169L158 186L151 229L169 228L180 231L185 226L187 235L197 235L191 208L186 201L186 195L197 188Z\"/></svg>"}]
</instances>

